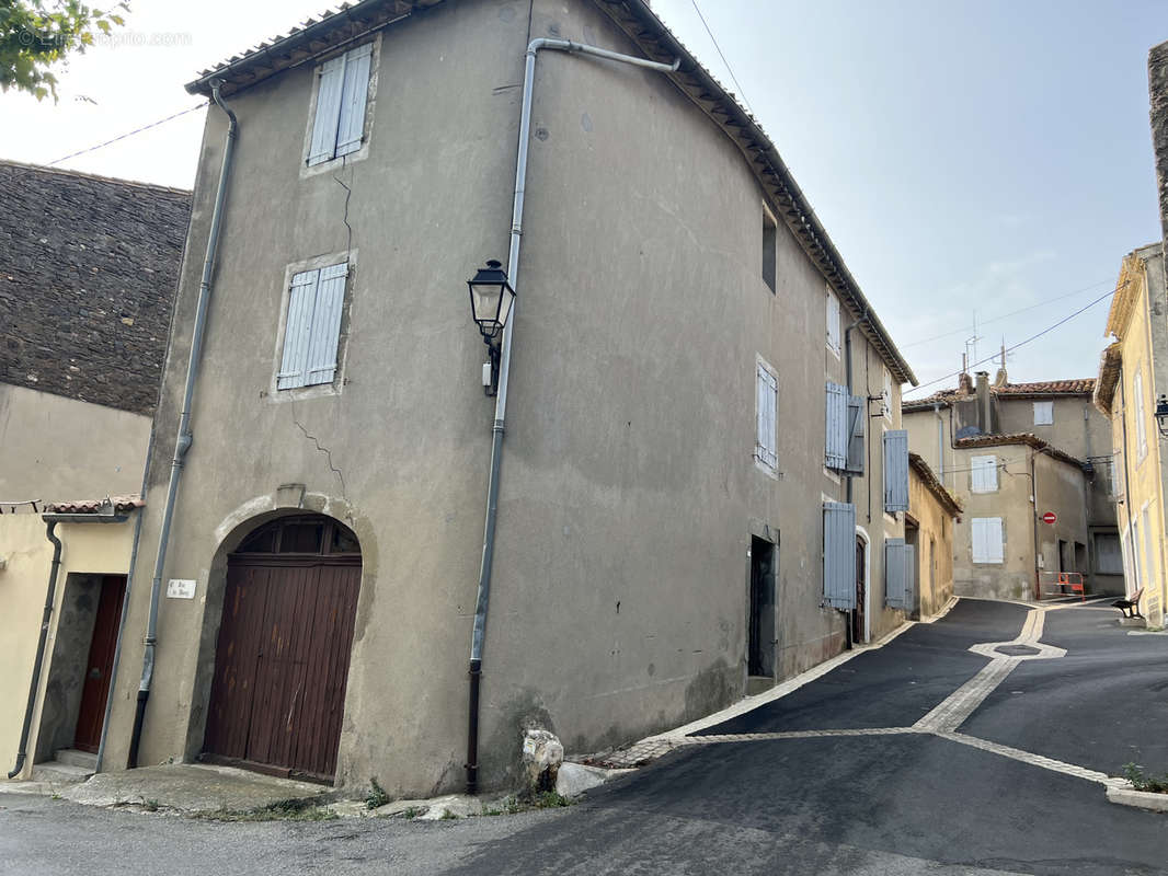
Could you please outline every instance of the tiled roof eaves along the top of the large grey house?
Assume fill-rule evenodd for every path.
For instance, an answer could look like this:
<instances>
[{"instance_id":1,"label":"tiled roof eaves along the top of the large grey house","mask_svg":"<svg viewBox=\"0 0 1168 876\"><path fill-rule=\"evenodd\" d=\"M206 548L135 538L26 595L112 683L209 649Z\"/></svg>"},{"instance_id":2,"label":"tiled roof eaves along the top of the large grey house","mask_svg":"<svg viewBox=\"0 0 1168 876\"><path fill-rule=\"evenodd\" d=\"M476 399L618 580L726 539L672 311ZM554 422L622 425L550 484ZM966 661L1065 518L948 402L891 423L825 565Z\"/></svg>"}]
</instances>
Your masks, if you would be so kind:
<instances>
[{"instance_id":1,"label":"tiled roof eaves along the top of the large grey house","mask_svg":"<svg viewBox=\"0 0 1168 876\"><path fill-rule=\"evenodd\" d=\"M228 58L187 83L193 95L210 95L211 81L222 79L222 93L230 95L274 76L310 58L339 48L373 29L423 13L443 0L362 0L345 4L319 20L308 19L285 36L260 43ZM728 92L649 8L646 0L592 0L630 40L653 61L681 60L669 79L704 112L742 151L746 164L772 200L787 228L807 257L819 267L843 299L850 315L863 320L857 331L880 352L889 370L902 383L917 384L916 375L860 291L843 257L828 237L774 144L734 95Z\"/></svg>"}]
</instances>

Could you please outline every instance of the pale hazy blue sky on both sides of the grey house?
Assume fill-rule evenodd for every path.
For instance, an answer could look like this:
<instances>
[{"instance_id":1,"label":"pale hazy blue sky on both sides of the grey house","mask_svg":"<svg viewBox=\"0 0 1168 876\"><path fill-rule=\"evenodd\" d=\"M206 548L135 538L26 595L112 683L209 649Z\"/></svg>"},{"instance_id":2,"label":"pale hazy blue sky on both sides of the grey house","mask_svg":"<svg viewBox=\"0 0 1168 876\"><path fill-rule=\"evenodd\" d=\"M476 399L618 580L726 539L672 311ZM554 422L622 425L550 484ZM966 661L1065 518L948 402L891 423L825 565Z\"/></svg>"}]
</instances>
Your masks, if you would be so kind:
<instances>
[{"instance_id":1,"label":"pale hazy blue sky on both sides of the grey house","mask_svg":"<svg viewBox=\"0 0 1168 876\"><path fill-rule=\"evenodd\" d=\"M58 74L58 103L0 95L0 158L49 164L196 106L195 72L326 8L132 0ZM1168 40L1163 0L653 8L770 134L915 395L1101 298L1007 359L1014 382L1096 375L1120 259L1160 236L1147 53ZM203 113L56 166L189 188Z\"/></svg>"}]
</instances>

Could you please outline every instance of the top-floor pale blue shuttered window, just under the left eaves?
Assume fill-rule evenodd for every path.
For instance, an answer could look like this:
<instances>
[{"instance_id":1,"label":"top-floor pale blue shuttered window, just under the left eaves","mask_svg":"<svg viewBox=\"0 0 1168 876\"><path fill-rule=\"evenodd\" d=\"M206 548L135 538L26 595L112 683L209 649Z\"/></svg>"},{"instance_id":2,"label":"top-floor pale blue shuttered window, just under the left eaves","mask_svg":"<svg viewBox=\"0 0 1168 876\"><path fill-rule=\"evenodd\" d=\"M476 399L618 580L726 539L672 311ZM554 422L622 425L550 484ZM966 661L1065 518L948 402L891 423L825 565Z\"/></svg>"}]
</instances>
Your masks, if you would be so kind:
<instances>
[{"instance_id":1,"label":"top-floor pale blue shuttered window, just under the left eaves","mask_svg":"<svg viewBox=\"0 0 1168 876\"><path fill-rule=\"evenodd\" d=\"M308 165L361 148L371 63L373 43L367 42L320 65Z\"/></svg>"}]
</instances>

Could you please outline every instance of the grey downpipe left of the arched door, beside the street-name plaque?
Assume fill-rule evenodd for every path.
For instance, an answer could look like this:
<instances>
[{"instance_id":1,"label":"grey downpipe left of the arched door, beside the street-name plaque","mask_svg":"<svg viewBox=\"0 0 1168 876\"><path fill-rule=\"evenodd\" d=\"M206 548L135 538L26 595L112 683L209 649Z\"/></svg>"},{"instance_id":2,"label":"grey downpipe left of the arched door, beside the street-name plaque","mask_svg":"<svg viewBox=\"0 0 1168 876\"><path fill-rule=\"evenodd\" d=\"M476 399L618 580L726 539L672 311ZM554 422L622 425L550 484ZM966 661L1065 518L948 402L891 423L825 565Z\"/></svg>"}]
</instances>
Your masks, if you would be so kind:
<instances>
[{"instance_id":1,"label":"grey downpipe left of the arched door, beside the street-name plaque","mask_svg":"<svg viewBox=\"0 0 1168 876\"><path fill-rule=\"evenodd\" d=\"M190 340L190 360L187 363L187 382L182 395L182 413L179 417L179 434L174 443L174 458L171 460L171 482L166 493L166 505L162 507L162 524L158 536L158 554L154 559L154 578L151 582L150 617L146 621L146 639L142 649L142 674L138 683L138 703L134 710L134 726L130 736L130 757L127 766L138 766L138 746L141 743L142 722L146 716L146 703L150 700L151 686L154 681L154 652L158 645L158 605L162 590L162 572L166 568L166 548L171 537L171 523L174 519L174 501L179 493L179 480L182 478L183 458L190 450L190 403L195 395L195 383L199 380L199 359L203 347L203 329L207 326L207 307L211 296L211 278L215 272L215 256L218 252L220 227L223 220L223 202L227 199L228 180L231 175L231 164L235 158L235 141L238 121L235 113L223 103L220 95L222 82L211 85L211 98L227 113L229 125L227 142L223 146L223 166L220 168L218 188L215 192L215 208L211 213L211 227L207 239L207 257L203 259L203 276L199 284L199 301L195 307L195 327ZM148 463L147 463L148 465Z\"/></svg>"}]
</instances>

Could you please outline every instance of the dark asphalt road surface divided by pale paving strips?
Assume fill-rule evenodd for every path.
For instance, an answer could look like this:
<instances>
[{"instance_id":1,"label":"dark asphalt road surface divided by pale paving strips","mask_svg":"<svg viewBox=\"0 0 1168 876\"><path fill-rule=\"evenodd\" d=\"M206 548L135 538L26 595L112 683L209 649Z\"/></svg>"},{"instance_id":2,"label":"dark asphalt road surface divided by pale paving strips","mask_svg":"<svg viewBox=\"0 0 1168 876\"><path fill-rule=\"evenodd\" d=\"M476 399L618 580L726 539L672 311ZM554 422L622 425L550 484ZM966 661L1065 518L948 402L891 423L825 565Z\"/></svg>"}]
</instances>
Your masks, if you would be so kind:
<instances>
[{"instance_id":1,"label":"dark asphalt road surface divided by pale paving strips","mask_svg":"<svg viewBox=\"0 0 1168 876\"><path fill-rule=\"evenodd\" d=\"M909 726L986 665L969 645L1013 639L1024 618L962 600L716 732ZM1106 772L1133 751L1168 769L1168 635L1108 621L1049 612L1042 641L1068 655L1020 663L961 732ZM568 809L447 822L224 825L11 794L0 807L0 872L22 875L1168 872L1168 815L920 732L693 745Z\"/></svg>"}]
</instances>

